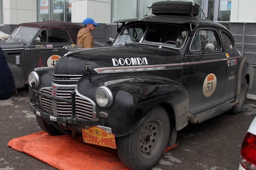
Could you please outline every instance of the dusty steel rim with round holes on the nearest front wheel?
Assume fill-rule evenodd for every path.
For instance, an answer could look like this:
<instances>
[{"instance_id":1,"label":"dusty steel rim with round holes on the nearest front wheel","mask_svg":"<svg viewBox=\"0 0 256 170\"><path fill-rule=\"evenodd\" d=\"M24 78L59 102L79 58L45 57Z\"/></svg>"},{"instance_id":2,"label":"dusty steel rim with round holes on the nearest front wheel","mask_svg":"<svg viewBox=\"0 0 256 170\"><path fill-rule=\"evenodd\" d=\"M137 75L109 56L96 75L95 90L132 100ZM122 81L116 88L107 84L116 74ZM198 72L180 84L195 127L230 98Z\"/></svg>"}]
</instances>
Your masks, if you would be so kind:
<instances>
[{"instance_id":1,"label":"dusty steel rim with round holes on the nearest front wheel","mask_svg":"<svg viewBox=\"0 0 256 170\"><path fill-rule=\"evenodd\" d=\"M144 158L155 156L163 142L163 126L160 120L148 122L140 132L140 153Z\"/></svg>"}]
</instances>

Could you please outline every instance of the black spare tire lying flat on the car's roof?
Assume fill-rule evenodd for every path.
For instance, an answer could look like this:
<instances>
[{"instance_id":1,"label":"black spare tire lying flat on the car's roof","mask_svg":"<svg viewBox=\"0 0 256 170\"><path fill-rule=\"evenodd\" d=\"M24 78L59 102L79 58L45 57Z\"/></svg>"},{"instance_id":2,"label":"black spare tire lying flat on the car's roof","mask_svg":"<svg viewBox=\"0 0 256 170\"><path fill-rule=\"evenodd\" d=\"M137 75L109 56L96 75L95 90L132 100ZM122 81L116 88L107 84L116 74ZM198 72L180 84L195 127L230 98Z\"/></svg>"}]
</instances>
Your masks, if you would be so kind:
<instances>
[{"instance_id":1,"label":"black spare tire lying flat on the car's roof","mask_svg":"<svg viewBox=\"0 0 256 170\"><path fill-rule=\"evenodd\" d=\"M195 3L193 15L198 16L199 5ZM152 14L154 15L180 15L188 16L192 12L191 2L160 1L152 4Z\"/></svg>"}]
</instances>

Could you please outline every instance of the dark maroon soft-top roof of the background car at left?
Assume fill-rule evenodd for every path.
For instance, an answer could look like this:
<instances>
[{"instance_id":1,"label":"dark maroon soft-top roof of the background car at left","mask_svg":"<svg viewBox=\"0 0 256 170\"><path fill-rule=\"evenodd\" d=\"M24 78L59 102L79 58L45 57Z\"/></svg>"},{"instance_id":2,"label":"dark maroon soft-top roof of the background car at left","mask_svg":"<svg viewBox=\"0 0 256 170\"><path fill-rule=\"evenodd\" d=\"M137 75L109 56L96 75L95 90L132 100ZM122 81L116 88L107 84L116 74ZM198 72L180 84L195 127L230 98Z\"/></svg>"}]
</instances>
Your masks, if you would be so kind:
<instances>
[{"instance_id":1,"label":"dark maroon soft-top roof of the background car at left","mask_svg":"<svg viewBox=\"0 0 256 170\"><path fill-rule=\"evenodd\" d=\"M64 22L64 21L42 21L35 23L20 23L17 26L32 26L38 28L58 28L65 29L69 32L73 42L77 40L77 33L81 28L84 28L83 25L77 23Z\"/></svg>"}]
</instances>

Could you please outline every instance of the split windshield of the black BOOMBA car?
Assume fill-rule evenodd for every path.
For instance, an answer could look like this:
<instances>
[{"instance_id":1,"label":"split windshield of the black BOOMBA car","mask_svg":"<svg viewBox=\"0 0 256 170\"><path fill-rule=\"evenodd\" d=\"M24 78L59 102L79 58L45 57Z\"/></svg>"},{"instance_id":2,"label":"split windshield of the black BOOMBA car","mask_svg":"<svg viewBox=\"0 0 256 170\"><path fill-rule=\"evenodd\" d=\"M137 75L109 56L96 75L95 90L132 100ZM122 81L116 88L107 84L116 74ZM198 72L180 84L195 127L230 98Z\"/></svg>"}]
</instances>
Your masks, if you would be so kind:
<instances>
[{"instance_id":1,"label":"split windshield of the black BOOMBA car","mask_svg":"<svg viewBox=\"0 0 256 170\"><path fill-rule=\"evenodd\" d=\"M134 24L126 27L119 34L113 46L122 45L125 41L126 43L140 42L143 38L142 43L182 48L187 35L187 29L181 26L159 23Z\"/></svg>"}]
</instances>

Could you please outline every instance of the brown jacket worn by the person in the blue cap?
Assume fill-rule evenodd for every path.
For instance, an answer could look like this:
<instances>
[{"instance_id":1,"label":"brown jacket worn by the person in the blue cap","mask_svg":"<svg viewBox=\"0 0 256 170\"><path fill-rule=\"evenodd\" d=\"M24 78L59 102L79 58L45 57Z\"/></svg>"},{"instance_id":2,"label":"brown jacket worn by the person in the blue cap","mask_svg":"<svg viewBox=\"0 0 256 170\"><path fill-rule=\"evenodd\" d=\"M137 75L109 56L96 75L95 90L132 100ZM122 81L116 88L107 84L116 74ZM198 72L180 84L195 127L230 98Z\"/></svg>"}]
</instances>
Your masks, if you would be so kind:
<instances>
[{"instance_id":1,"label":"brown jacket worn by the person in the blue cap","mask_svg":"<svg viewBox=\"0 0 256 170\"><path fill-rule=\"evenodd\" d=\"M77 45L82 45L81 48L93 48L93 36L86 28L81 28L77 34Z\"/></svg>"}]
</instances>

